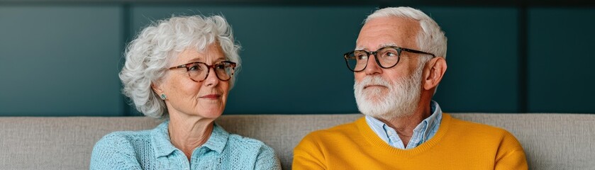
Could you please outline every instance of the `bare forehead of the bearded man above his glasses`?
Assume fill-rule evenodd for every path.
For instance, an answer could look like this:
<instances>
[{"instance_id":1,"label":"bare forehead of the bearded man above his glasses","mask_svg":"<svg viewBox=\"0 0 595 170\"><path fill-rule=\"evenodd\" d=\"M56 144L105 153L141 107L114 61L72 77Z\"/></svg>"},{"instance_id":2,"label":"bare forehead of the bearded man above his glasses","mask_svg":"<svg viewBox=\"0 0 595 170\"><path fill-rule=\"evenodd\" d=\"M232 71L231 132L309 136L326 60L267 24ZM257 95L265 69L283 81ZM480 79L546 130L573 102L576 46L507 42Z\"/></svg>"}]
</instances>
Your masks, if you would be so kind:
<instances>
[{"instance_id":1,"label":"bare forehead of the bearded man above his glasses","mask_svg":"<svg viewBox=\"0 0 595 170\"><path fill-rule=\"evenodd\" d=\"M416 49L419 21L402 17L374 18L362 26L357 37L357 50L377 50L386 46Z\"/></svg>"}]
</instances>

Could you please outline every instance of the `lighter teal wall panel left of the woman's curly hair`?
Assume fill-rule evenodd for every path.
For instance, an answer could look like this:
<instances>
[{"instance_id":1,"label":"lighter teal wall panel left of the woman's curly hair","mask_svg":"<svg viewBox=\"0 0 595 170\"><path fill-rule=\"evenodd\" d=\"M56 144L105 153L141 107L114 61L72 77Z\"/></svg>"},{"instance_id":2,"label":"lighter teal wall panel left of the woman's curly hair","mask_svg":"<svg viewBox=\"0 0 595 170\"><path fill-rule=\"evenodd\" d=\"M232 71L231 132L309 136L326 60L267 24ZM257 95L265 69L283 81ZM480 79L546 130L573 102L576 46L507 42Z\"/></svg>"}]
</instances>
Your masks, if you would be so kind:
<instances>
[{"instance_id":1,"label":"lighter teal wall panel left of the woman's curly hair","mask_svg":"<svg viewBox=\"0 0 595 170\"><path fill-rule=\"evenodd\" d=\"M123 115L121 6L0 6L0 115Z\"/></svg>"}]
</instances>

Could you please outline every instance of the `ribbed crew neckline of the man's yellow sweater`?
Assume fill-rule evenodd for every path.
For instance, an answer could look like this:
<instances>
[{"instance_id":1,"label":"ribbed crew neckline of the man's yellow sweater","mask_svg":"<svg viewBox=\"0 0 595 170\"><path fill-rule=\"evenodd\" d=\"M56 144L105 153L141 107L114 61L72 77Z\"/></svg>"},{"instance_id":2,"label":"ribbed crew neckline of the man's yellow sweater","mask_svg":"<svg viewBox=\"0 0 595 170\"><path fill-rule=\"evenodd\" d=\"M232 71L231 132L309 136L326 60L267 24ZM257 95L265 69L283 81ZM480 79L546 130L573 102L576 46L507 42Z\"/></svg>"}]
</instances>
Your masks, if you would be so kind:
<instances>
[{"instance_id":1,"label":"ribbed crew neckline of the man's yellow sweater","mask_svg":"<svg viewBox=\"0 0 595 170\"><path fill-rule=\"evenodd\" d=\"M434 147L435 145L438 145L438 142L440 142L440 140L442 140L442 138L448 132L451 119L452 118L449 114L443 113L443 118L440 121L440 127L438 128L438 132L436 132L434 137L432 137L430 140L426 142L423 142L421 145L414 147L413 149L398 149L387 144L387 142L384 142L384 140L380 139L380 137L378 137L378 135L374 133L372 128L369 128L369 126L366 123L365 117L356 120L355 124L357 125L357 129L360 130L360 134L362 135L362 137L364 137L365 140L369 142L369 145L372 145L372 147L376 147L377 149L382 149L384 151L391 152L391 154L397 154L404 157L413 157L416 154L425 152L426 150Z\"/></svg>"}]
</instances>

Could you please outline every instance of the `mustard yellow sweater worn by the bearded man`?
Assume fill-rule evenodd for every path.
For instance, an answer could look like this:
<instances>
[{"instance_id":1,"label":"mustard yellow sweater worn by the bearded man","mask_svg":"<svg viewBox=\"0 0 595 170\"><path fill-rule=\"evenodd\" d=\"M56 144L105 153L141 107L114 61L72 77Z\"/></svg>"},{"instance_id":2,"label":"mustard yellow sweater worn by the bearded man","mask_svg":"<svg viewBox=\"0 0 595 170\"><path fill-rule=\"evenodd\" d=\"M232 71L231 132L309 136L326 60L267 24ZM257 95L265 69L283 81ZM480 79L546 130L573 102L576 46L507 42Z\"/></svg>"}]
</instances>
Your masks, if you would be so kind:
<instances>
[{"instance_id":1,"label":"mustard yellow sweater worn by the bearded man","mask_svg":"<svg viewBox=\"0 0 595 170\"><path fill-rule=\"evenodd\" d=\"M436 135L413 149L396 149L365 118L306 135L293 169L528 169L525 152L506 130L443 113Z\"/></svg>"}]
</instances>

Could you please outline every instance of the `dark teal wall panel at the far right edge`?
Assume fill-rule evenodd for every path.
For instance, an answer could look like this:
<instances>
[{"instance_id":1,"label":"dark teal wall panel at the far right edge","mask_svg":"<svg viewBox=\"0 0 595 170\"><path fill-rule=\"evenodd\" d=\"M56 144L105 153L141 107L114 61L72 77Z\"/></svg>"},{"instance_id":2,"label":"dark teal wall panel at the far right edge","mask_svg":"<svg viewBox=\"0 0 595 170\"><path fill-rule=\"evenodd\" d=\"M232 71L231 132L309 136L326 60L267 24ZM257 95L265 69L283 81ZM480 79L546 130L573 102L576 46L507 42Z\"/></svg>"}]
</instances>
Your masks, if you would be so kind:
<instances>
[{"instance_id":1,"label":"dark teal wall panel at the far right edge","mask_svg":"<svg viewBox=\"0 0 595 170\"><path fill-rule=\"evenodd\" d=\"M529 11L529 111L594 113L594 9Z\"/></svg>"}]
</instances>

